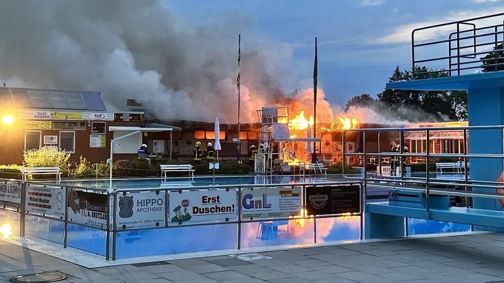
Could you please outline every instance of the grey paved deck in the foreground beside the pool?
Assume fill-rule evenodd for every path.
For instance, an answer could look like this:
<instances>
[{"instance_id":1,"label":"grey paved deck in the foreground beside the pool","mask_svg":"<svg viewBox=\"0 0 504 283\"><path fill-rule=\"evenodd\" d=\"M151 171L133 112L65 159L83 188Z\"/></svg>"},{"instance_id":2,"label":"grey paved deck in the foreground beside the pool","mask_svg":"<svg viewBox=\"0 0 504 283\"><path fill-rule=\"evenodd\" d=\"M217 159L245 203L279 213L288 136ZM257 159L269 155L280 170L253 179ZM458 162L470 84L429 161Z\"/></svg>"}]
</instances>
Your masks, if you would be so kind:
<instances>
[{"instance_id":1,"label":"grey paved deck in the foreground beside the pool","mask_svg":"<svg viewBox=\"0 0 504 283\"><path fill-rule=\"evenodd\" d=\"M504 282L504 235L474 233L87 268L0 241L0 281L44 271L59 282ZM98 259L97 261L104 261Z\"/></svg>"}]
</instances>

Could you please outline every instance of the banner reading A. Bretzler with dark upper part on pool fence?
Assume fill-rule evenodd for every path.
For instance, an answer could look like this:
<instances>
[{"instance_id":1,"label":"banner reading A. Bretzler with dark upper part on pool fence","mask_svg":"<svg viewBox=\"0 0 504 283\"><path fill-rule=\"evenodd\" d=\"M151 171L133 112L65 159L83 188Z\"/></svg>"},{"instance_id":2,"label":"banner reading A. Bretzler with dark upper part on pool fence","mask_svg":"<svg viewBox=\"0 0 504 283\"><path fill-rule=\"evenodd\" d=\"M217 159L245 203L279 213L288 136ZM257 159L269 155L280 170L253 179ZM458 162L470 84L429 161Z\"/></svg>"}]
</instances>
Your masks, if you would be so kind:
<instances>
[{"instance_id":1,"label":"banner reading A. Bretzler with dark upper part on pool fence","mask_svg":"<svg viewBox=\"0 0 504 283\"><path fill-rule=\"evenodd\" d=\"M107 204L107 194L69 190L67 218L74 223L105 229L108 215Z\"/></svg>"}]
</instances>

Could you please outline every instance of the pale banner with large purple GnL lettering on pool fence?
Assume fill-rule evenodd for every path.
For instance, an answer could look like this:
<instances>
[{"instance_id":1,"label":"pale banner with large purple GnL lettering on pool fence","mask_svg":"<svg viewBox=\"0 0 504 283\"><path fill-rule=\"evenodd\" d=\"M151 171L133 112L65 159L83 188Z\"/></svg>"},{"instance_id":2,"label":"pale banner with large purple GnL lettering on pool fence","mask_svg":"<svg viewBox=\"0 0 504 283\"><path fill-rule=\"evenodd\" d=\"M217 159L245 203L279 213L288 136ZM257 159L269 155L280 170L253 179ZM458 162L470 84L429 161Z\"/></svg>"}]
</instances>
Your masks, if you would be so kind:
<instances>
[{"instance_id":1,"label":"pale banner with large purple GnL lettering on pool fence","mask_svg":"<svg viewBox=\"0 0 504 283\"><path fill-rule=\"evenodd\" d=\"M241 218L285 218L301 214L301 187L243 188Z\"/></svg>"}]
</instances>

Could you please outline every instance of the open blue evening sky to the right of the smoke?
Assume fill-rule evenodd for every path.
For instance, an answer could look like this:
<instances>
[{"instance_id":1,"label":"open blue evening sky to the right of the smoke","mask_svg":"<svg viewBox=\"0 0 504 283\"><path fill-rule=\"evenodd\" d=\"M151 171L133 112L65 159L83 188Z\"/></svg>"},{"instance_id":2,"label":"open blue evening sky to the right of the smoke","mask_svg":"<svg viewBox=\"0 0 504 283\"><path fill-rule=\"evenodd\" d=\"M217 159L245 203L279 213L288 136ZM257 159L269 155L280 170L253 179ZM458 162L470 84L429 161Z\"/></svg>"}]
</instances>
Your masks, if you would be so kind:
<instances>
[{"instance_id":1,"label":"open blue evening sky to the right of the smoke","mask_svg":"<svg viewBox=\"0 0 504 283\"><path fill-rule=\"evenodd\" d=\"M396 65L411 68L413 28L504 10L500 0L187 0L168 5L195 25L225 17L248 19L251 25L240 32L242 50L253 36L271 40L277 52L292 52L287 89L312 85L317 36L319 87L331 104L340 106L354 95L382 92Z\"/></svg>"}]
</instances>

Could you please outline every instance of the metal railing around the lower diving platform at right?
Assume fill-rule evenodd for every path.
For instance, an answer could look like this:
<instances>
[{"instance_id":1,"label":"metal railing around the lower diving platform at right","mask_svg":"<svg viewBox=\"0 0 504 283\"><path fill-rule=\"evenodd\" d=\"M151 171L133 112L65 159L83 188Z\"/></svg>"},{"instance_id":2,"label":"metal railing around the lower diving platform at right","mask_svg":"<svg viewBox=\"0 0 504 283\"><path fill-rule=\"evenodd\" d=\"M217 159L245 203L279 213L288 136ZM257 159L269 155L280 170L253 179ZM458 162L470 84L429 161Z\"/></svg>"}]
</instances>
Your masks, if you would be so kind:
<instances>
[{"instance_id":1,"label":"metal railing around the lower diving platform at right","mask_svg":"<svg viewBox=\"0 0 504 283\"><path fill-rule=\"evenodd\" d=\"M461 131L462 134L462 148L459 153L442 153L436 152L434 150L433 144L433 133L438 131L453 131L458 130ZM425 194L426 200L426 210L429 210L429 195L430 194L442 194L442 195L451 195L451 196L461 196L461 197L481 197L481 198L494 198L496 200L502 201L504 203L504 183L501 180L489 181L487 179L476 179L474 176L470 176L469 173L469 160L476 161L478 159L486 159L486 160L500 160L499 167L492 169L498 169L499 172L504 170L504 144L497 143L493 144L495 147L492 149L494 153L469 153L468 152L468 143L469 143L469 134L475 134L478 131L484 131L484 133L498 131L498 134L495 136L499 136L500 139L504 136L504 126L503 125L495 125L495 126L465 126L465 127L419 127L419 128L369 128L369 129L351 129L345 130L342 133L342 141L343 144L346 140L346 135L351 132L360 131L363 135L363 140L366 141L366 133L370 135L370 133L377 133L377 149L373 152L369 152L369 147L366 146L366 142L363 145L363 152L361 153L347 153L345 149L343 149L343 156L358 156L363 160L364 168L362 175L350 175L345 172L345 168L343 168L343 176L349 179L358 179L363 182L363 190L364 196L367 197L367 188L369 185L373 186L382 186L384 189L392 189L392 188L405 188L408 190L418 190L422 191ZM426 149L424 152L406 152L404 151L404 146L410 147L410 144L406 143L405 140L403 142L399 142L400 152L390 152L384 151L384 144L389 145L390 139L399 139L401 140L401 136L404 136L405 133L408 132L424 132L423 143L426 145ZM386 139L387 140L384 140ZM490 144L490 142L488 142ZM432 145L432 146L431 146ZM488 146L488 148L491 148ZM428 149L428 150L427 150ZM497 152L497 153L495 153ZM400 174L391 174L391 176L383 176L379 172L368 174L368 170L366 168L366 164L368 164L368 160L373 158L379 160L379 165L382 164L382 159L385 157L397 157L399 159L407 159L407 158L417 158L421 157L425 159L425 170L423 173L419 175L423 176L407 176L405 170L401 170ZM444 174L437 174L431 172L429 169L436 163L436 159L439 158L453 158L458 160L463 164L464 170L462 170L457 178L447 178ZM462 163L463 162L463 163ZM435 175L435 177L431 176ZM480 188L483 190L474 191L473 188ZM486 189L486 190L485 190ZM467 203L467 202L466 202ZM504 207L502 207L504 209Z\"/></svg>"}]
</instances>

